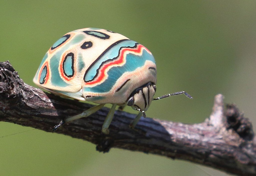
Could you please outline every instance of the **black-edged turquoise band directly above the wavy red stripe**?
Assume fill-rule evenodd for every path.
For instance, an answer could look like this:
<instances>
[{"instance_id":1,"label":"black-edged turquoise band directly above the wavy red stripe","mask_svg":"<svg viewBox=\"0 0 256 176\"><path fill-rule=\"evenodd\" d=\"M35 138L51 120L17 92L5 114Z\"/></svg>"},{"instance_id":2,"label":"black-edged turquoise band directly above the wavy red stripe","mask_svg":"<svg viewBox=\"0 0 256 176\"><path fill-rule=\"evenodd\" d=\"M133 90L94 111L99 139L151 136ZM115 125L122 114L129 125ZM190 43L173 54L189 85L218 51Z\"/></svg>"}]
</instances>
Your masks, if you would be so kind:
<instances>
[{"instance_id":1,"label":"black-edged turquoise band directly above the wavy red stripe","mask_svg":"<svg viewBox=\"0 0 256 176\"><path fill-rule=\"evenodd\" d=\"M97 74L97 69L100 67L100 65L109 60L116 58L119 54L119 50L121 47L134 47L137 42L132 41L132 40L125 40L123 42L118 43L117 45L113 46L110 50L108 50L104 55L100 58L98 58L97 62L92 65L91 68L87 71L87 74L84 77L85 81L92 80L95 75Z\"/></svg>"}]
</instances>

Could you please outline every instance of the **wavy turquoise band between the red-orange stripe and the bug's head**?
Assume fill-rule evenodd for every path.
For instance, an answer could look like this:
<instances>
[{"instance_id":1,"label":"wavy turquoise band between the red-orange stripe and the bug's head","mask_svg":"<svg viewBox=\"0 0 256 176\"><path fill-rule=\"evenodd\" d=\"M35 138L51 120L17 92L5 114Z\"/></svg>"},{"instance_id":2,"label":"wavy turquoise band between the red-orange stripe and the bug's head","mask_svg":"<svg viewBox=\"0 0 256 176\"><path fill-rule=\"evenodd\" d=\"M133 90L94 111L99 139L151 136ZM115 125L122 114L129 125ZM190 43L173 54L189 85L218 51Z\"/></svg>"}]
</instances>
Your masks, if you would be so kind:
<instances>
[{"instance_id":1,"label":"wavy turquoise band between the red-orange stripe and the bug's head","mask_svg":"<svg viewBox=\"0 0 256 176\"><path fill-rule=\"evenodd\" d=\"M146 60L150 60L155 63L153 55L149 54L147 50L143 50L142 55L134 55L132 53L126 55L126 63L123 66L112 67L108 71L108 79L103 83L90 87L84 87L83 91L103 93L108 92L116 83L116 81L125 73L132 72L138 67L142 67ZM121 89L122 90L122 89Z\"/></svg>"}]
</instances>

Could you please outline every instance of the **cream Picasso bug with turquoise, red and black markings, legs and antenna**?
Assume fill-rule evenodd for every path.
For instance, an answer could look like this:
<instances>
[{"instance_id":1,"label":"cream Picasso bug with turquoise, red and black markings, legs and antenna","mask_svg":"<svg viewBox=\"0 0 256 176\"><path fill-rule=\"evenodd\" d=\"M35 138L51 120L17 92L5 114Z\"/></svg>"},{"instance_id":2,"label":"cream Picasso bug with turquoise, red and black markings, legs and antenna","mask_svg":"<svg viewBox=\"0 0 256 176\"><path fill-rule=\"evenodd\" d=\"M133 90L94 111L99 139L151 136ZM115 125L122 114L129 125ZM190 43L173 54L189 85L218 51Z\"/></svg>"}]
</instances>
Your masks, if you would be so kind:
<instances>
[{"instance_id":1,"label":"cream Picasso bug with turquoise, red and black markings, legs and antenna","mask_svg":"<svg viewBox=\"0 0 256 176\"><path fill-rule=\"evenodd\" d=\"M62 36L45 54L33 80L53 94L98 103L81 114L63 119L54 129L75 119L87 117L106 103L112 107L102 126L108 134L116 105L128 105L139 114L131 123L134 127L152 100L157 98L156 62L143 45L124 35L99 28L83 28Z\"/></svg>"}]
</instances>

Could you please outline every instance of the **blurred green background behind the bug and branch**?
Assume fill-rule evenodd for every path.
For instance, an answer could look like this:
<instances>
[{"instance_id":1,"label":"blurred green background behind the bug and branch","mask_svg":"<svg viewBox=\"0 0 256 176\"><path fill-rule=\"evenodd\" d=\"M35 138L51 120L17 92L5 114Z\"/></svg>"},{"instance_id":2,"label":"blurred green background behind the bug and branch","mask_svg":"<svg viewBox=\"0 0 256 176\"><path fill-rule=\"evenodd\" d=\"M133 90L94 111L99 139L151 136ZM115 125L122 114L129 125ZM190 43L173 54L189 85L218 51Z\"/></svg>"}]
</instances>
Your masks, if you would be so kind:
<instances>
[{"instance_id":1,"label":"blurred green background behind the bug and branch","mask_svg":"<svg viewBox=\"0 0 256 176\"><path fill-rule=\"evenodd\" d=\"M84 27L104 28L154 54L156 96L185 90L194 97L153 102L148 117L199 123L209 117L213 97L221 93L226 103L236 103L256 124L254 0L2 0L0 25L0 61L9 60L29 85L34 86L41 59L63 34ZM120 149L103 154L89 142L30 129L0 122L0 175L226 175L151 154Z\"/></svg>"}]
</instances>

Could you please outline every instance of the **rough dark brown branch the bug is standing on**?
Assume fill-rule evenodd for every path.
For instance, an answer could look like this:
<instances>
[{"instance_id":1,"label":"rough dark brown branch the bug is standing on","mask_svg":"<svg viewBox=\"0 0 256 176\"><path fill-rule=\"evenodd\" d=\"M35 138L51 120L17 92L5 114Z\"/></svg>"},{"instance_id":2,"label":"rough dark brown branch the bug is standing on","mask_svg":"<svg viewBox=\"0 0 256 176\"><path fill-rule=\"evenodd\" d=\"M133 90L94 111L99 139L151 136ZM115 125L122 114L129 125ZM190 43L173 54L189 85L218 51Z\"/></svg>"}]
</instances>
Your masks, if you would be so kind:
<instances>
[{"instance_id":1,"label":"rough dark brown branch the bug is standing on","mask_svg":"<svg viewBox=\"0 0 256 176\"><path fill-rule=\"evenodd\" d=\"M9 62L0 63L0 121L30 126L47 132L62 118L92 107L72 99L46 94L25 84ZM116 111L108 135L101 126L108 108L72 121L56 133L84 139L97 150L110 148L142 151L183 159L237 175L256 175L256 138L252 124L234 104L215 96L212 114L200 124L182 124L141 118L136 129L129 123L134 114Z\"/></svg>"}]
</instances>

